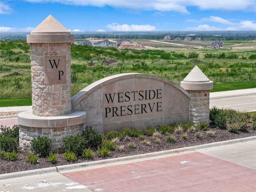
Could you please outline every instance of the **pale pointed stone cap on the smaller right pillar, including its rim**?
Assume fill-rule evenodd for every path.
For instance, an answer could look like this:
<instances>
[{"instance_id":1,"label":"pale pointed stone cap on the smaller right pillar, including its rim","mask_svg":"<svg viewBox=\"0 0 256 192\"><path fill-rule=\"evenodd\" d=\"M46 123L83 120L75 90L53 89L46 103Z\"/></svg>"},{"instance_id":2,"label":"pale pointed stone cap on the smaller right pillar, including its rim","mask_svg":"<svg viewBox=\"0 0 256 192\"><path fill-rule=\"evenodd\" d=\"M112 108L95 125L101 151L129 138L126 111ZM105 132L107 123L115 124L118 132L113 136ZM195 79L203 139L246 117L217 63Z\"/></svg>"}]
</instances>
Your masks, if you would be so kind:
<instances>
[{"instance_id":1,"label":"pale pointed stone cap on the smaller right pillar, including its rim","mask_svg":"<svg viewBox=\"0 0 256 192\"><path fill-rule=\"evenodd\" d=\"M198 66L195 66L180 82L180 86L185 90L210 90L213 88L213 82L206 77Z\"/></svg>"}]
</instances>

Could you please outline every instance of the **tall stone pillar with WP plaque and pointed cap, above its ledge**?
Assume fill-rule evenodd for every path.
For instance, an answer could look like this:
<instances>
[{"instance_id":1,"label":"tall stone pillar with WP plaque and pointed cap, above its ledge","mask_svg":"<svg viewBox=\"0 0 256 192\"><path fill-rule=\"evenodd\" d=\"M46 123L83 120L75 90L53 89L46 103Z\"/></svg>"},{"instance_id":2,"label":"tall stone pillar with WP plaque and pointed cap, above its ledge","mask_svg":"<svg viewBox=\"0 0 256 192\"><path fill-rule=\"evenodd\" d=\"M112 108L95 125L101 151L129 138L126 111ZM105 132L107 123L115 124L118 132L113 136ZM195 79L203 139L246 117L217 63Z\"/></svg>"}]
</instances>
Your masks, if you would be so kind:
<instances>
[{"instance_id":1,"label":"tall stone pillar with WP plaque and pointed cap, above its ledge","mask_svg":"<svg viewBox=\"0 0 256 192\"><path fill-rule=\"evenodd\" d=\"M49 15L27 35L31 53L32 113L59 116L71 112L70 34Z\"/></svg>"}]
</instances>

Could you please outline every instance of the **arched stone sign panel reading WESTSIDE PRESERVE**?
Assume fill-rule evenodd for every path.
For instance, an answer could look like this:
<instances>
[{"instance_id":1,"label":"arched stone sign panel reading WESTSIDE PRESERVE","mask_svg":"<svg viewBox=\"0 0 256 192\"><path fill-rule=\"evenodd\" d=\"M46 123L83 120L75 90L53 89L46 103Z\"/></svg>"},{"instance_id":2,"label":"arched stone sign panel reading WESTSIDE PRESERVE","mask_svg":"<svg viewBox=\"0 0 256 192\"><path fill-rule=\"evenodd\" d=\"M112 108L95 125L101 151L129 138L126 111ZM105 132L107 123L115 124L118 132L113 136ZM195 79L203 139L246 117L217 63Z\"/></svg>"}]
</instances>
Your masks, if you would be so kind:
<instances>
[{"instance_id":1,"label":"arched stone sign panel reading WESTSIDE PRESERVE","mask_svg":"<svg viewBox=\"0 0 256 192\"><path fill-rule=\"evenodd\" d=\"M146 128L189 120L189 93L147 74L118 74L90 84L71 99L72 111L86 111L86 126L100 132Z\"/></svg>"}]
</instances>

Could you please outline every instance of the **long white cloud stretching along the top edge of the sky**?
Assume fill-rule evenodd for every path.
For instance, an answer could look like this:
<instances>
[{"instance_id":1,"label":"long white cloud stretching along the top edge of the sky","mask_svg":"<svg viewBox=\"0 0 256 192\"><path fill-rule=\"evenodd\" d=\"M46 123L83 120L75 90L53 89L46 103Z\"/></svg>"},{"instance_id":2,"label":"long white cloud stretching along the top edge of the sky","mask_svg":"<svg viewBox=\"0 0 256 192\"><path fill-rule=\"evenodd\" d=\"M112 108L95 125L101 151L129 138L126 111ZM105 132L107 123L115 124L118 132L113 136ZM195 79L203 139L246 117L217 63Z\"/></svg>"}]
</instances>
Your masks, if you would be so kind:
<instances>
[{"instance_id":1,"label":"long white cloud stretching along the top edge of the sky","mask_svg":"<svg viewBox=\"0 0 256 192\"><path fill-rule=\"evenodd\" d=\"M201 10L253 11L256 0L26 0L29 2L59 2L77 6L111 6L134 10L155 10L160 12L180 12L189 14L188 6Z\"/></svg>"}]
</instances>

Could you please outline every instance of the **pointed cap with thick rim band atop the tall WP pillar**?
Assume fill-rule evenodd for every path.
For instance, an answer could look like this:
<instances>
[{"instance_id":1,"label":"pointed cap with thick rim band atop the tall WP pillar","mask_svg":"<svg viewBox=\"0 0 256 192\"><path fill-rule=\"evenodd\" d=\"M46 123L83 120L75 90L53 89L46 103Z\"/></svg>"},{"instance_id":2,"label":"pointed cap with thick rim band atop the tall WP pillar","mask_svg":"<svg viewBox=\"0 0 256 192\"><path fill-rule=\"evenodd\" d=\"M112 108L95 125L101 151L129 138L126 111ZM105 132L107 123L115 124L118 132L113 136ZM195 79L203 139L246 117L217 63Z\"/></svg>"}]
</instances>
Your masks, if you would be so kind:
<instances>
[{"instance_id":1,"label":"pointed cap with thick rim band atop the tall WP pillar","mask_svg":"<svg viewBox=\"0 0 256 192\"><path fill-rule=\"evenodd\" d=\"M27 35L28 43L62 43L74 42L74 34L58 22L52 15L43 20L30 35Z\"/></svg>"}]
</instances>

